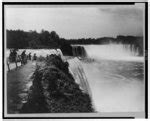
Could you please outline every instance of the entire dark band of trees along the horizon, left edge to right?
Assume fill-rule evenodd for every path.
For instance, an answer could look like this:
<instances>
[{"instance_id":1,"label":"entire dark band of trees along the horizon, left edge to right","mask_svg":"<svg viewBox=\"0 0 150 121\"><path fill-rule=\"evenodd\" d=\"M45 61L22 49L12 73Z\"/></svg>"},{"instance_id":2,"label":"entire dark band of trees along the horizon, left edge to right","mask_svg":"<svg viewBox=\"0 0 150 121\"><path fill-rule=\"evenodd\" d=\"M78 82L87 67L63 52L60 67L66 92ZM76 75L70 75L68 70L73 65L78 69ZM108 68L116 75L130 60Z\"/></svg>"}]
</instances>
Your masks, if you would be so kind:
<instances>
[{"instance_id":1,"label":"entire dark band of trees along the horizon, left edge to right","mask_svg":"<svg viewBox=\"0 0 150 121\"><path fill-rule=\"evenodd\" d=\"M72 55L71 44L109 44L122 43L131 44L135 49L139 49L143 53L143 37L138 36L123 36L118 35L113 37L101 38L80 38L80 39L65 39L60 38L55 31L41 30L36 31L23 30L7 30L7 48L17 49L41 49L41 48L60 48L64 54Z\"/></svg>"}]
</instances>

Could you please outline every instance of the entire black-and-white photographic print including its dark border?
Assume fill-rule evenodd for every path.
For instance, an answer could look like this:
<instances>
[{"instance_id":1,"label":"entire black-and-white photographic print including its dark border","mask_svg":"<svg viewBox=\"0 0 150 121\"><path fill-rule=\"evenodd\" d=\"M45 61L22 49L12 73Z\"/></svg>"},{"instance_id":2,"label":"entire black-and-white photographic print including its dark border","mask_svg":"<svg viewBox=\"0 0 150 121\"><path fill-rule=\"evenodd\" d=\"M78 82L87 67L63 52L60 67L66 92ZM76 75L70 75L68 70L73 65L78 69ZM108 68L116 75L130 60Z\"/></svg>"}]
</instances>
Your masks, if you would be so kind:
<instances>
[{"instance_id":1,"label":"entire black-and-white photographic print including its dark border","mask_svg":"<svg viewBox=\"0 0 150 121\"><path fill-rule=\"evenodd\" d=\"M145 9L4 4L4 116L145 118Z\"/></svg>"}]
</instances>

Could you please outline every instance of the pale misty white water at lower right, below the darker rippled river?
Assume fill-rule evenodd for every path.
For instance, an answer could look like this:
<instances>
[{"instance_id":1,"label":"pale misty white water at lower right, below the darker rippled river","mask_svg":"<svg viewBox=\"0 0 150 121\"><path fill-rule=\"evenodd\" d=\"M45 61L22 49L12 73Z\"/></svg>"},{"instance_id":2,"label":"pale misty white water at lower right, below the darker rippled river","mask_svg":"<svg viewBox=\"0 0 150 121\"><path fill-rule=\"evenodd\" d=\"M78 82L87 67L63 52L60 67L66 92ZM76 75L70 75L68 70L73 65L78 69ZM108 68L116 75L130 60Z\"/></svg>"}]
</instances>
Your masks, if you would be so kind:
<instances>
[{"instance_id":1,"label":"pale misty white water at lower right, below the darker rippled river","mask_svg":"<svg viewBox=\"0 0 150 121\"><path fill-rule=\"evenodd\" d=\"M111 71L105 70L109 67L95 62L82 63L82 67L92 91L96 111L144 112L143 80L134 78L132 74L121 75L115 72L115 67ZM116 68L118 68L117 65Z\"/></svg>"}]
</instances>

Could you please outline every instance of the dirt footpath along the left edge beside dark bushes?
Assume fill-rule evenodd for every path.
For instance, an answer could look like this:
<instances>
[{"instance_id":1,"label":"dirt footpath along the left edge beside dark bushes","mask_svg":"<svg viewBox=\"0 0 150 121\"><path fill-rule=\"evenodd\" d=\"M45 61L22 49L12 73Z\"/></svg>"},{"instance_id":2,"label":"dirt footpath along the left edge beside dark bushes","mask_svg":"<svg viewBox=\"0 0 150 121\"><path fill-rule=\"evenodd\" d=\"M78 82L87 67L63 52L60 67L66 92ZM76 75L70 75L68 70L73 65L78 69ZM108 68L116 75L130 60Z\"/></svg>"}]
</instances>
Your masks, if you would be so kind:
<instances>
[{"instance_id":1,"label":"dirt footpath along the left edge beside dark bushes","mask_svg":"<svg viewBox=\"0 0 150 121\"><path fill-rule=\"evenodd\" d=\"M32 82L30 77L35 70L35 62L29 61L17 70L7 72L7 112L18 113L25 103Z\"/></svg>"}]
</instances>

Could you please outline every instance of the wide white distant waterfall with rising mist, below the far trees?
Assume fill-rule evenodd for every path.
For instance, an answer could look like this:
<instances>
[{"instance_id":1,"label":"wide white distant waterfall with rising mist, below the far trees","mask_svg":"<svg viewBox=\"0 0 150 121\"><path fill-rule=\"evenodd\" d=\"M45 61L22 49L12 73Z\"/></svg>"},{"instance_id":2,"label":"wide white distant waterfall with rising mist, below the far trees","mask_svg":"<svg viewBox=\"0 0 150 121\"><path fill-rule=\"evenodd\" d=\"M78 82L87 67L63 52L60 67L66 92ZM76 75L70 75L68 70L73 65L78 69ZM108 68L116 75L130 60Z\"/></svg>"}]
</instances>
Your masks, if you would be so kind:
<instances>
[{"instance_id":1,"label":"wide white distant waterfall with rising mist, below the far trees","mask_svg":"<svg viewBox=\"0 0 150 121\"><path fill-rule=\"evenodd\" d=\"M78 47L73 46L73 53L80 56ZM130 44L80 45L81 47L88 58L95 60L144 61L144 57L139 56L139 49Z\"/></svg>"}]
</instances>

